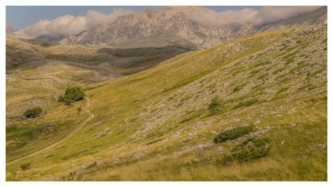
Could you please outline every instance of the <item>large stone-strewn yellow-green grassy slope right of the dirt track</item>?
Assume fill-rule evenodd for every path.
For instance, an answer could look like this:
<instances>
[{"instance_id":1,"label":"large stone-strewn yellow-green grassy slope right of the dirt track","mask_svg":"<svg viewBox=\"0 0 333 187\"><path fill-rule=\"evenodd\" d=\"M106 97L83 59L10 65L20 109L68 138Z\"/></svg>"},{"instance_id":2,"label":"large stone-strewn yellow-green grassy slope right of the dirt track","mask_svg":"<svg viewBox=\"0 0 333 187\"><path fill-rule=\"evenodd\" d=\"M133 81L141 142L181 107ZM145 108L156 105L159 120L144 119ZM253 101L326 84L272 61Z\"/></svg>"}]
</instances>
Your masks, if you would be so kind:
<instances>
[{"instance_id":1,"label":"large stone-strewn yellow-green grassy slope right of the dirt track","mask_svg":"<svg viewBox=\"0 0 333 187\"><path fill-rule=\"evenodd\" d=\"M326 26L183 53L86 96L95 117L57 148L8 165L8 181L327 180ZM219 134L228 141L214 142Z\"/></svg>"}]
</instances>

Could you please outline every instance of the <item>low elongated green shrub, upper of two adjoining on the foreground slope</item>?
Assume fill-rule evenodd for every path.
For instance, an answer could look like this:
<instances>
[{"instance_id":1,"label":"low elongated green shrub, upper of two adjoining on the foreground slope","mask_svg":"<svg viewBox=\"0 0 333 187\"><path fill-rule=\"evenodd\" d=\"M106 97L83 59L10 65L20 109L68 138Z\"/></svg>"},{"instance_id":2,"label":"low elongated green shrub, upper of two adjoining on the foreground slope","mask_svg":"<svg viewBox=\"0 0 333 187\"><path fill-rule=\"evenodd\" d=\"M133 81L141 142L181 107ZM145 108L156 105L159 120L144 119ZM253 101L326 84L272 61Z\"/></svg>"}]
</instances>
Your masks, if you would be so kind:
<instances>
[{"instance_id":1,"label":"low elongated green shrub, upper of two adjoining on the foreground slope","mask_svg":"<svg viewBox=\"0 0 333 187\"><path fill-rule=\"evenodd\" d=\"M219 143L228 140L234 140L235 138L240 138L245 134L249 134L252 131L252 126L247 127L236 127L228 131L222 131L220 134L214 136L214 142Z\"/></svg>"}]
</instances>

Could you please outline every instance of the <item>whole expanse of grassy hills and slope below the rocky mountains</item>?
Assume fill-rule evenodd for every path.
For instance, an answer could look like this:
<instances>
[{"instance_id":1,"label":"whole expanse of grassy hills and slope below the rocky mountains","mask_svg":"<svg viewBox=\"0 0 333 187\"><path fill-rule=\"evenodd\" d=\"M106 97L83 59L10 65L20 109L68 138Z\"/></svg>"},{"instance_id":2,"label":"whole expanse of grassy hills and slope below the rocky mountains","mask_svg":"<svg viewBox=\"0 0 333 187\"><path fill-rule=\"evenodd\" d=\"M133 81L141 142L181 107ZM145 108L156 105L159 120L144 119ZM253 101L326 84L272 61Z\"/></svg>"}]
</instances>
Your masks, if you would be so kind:
<instances>
[{"instance_id":1,"label":"whole expanse of grassy hills and slope below the rocky mountains","mask_svg":"<svg viewBox=\"0 0 333 187\"><path fill-rule=\"evenodd\" d=\"M327 181L327 25L203 46L7 37L6 180ZM86 101L58 103L67 86L91 120ZM46 115L20 119L37 105Z\"/></svg>"}]
</instances>

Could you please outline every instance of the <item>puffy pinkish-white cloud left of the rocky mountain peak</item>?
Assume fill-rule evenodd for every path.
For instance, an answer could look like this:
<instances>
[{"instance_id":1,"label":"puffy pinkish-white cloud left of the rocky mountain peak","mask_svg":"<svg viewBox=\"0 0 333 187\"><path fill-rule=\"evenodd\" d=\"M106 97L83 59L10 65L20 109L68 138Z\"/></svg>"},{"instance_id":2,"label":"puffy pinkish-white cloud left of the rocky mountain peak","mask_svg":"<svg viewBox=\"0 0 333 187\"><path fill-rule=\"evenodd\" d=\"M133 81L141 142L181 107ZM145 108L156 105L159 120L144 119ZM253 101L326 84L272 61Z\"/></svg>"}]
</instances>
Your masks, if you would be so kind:
<instances>
[{"instance_id":1,"label":"puffy pinkish-white cloud left of the rocky mountain peak","mask_svg":"<svg viewBox=\"0 0 333 187\"><path fill-rule=\"evenodd\" d=\"M88 11L85 16L63 15L53 20L39 20L22 30L13 32L14 37L37 38L43 35L64 35L79 34L99 24L114 22L122 15L135 13L133 10L117 8L110 14L103 14L98 11Z\"/></svg>"}]
</instances>

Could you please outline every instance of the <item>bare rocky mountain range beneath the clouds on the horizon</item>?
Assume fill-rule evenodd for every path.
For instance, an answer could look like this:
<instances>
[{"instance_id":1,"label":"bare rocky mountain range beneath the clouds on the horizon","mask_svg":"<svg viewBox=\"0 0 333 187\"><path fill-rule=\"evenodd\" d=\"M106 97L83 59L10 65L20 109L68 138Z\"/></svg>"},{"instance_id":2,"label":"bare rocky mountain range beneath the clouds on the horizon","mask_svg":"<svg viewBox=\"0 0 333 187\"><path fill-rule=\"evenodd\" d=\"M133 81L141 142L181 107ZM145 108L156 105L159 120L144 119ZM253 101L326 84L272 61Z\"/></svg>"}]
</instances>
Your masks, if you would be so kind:
<instances>
[{"instance_id":1,"label":"bare rocky mountain range beneath the clouds on the horizon","mask_svg":"<svg viewBox=\"0 0 333 187\"><path fill-rule=\"evenodd\" d=\"M71 35L56 41L58 44L115 44L150 34L169 33L192 41L200 49L207 49L223 41L264 30L318 25L327 20L326 6L275 25L254 25L251 23L203 25L189 18L188 13L195 11L203 11L203 8L198 6L169 7L160 12L146 9L136 14L125 15L109 25L97 25L81 34Z\"/></svg>"}]
</instances>

